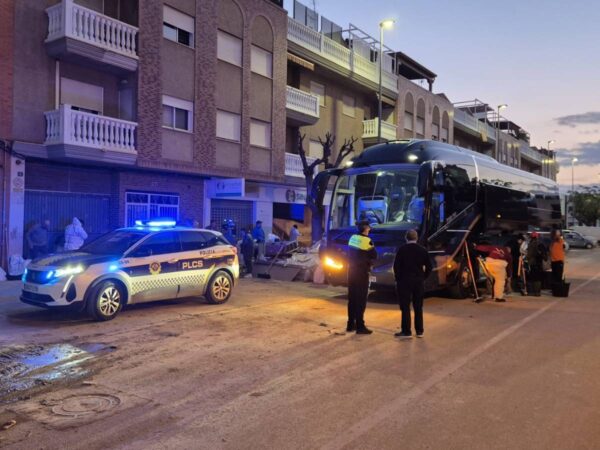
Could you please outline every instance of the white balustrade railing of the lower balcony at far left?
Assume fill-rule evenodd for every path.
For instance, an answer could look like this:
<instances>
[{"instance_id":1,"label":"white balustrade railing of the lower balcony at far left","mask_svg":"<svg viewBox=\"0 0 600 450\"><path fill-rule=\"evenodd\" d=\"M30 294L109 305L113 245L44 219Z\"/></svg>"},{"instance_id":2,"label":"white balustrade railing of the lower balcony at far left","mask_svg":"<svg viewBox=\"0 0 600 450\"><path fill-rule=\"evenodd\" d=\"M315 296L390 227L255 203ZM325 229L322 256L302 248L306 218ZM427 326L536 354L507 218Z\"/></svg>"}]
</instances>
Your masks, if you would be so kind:
<instances>
[{"instance_id":1,"label":"white balustrade railing of the lower balcony at far left","mask_svg":"<svg viewBox=\"0 0 600 450\"><path fill-rule=\"evenodd\" d=\"M136 153L136 122L77 111L70 105L44 113L44 144L71 144L124 153Z\"/></svg>"}]
</instances>

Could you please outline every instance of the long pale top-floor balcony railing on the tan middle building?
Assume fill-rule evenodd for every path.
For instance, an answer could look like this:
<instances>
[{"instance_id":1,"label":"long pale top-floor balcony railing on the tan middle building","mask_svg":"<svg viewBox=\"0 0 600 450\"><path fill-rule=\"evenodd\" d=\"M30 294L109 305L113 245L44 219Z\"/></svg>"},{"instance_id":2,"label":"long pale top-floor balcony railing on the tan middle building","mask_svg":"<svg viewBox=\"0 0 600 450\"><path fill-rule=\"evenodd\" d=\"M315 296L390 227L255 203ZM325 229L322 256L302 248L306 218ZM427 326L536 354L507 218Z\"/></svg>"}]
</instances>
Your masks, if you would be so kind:
<instances>
[{"instance_id":1,"label":"long pale top-floor balcony railing on the tan middle building","mask_svg":"<svg viewBox=\"0 0 600 450\"><path fill-rule=\"evenodd\" d=\"M317 55L326 58L337 66L379 84L379 65L356 54L342 44L328 38L306 25L288 17L288 39ZM398 92L398 77L393 73L381 73L383 87Z\"/></svg>"}]
</instances>

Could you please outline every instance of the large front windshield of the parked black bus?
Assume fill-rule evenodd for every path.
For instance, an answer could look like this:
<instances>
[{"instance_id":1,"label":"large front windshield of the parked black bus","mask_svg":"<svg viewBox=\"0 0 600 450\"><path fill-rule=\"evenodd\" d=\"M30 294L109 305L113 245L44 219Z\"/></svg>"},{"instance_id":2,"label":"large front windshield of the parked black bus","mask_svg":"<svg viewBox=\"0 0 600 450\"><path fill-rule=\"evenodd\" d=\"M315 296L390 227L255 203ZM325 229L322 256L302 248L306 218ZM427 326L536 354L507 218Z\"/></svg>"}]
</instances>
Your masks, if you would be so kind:
<instances>
[{"instance_id":1,"label":"large front windshield of the parked black bus","mask_svg":"<svg viewBox=\"0 0 600 450\"><path fill-rule=\"evenodd\" d=\"M423 198L417 197L417 168L348 171L338 179L331 201L330 229L368 220L371 226L421 223Z\"/></svg>"}]
</instances>

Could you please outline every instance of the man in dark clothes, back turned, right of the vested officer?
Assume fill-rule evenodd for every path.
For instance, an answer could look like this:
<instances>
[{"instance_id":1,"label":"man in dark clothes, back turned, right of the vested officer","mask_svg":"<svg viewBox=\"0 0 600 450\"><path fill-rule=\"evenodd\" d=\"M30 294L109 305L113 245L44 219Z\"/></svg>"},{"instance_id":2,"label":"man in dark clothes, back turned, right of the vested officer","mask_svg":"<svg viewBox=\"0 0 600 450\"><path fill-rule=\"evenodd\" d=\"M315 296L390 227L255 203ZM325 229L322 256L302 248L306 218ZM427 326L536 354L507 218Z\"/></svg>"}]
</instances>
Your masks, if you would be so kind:
<instances>
[{"instance_id":1,"label":"man in dark clothes, back turned, right of the vested officer","mask_svg":"<svg viewBox=\"0 0 600 450\"><path fill-rule=\"evenodd\" d=\"M423 337L423 293L425 279L431 273L431 260L427 250L417 244L415 230L406 233L406 244L398 249L394 260L396 293L402 311L402 327L394 336L411 338L410 304L415 311L415 331Z\"/></svg>"}]
</instances>

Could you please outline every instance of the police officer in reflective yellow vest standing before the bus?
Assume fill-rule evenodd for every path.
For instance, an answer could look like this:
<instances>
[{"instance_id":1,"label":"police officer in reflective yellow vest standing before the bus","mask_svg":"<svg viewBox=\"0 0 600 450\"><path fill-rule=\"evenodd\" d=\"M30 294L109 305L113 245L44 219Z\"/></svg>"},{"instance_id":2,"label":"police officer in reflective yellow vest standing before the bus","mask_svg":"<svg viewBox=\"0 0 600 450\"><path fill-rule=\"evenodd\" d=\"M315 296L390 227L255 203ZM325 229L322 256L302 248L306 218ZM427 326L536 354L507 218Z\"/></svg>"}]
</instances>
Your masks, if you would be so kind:
<instances>
[{"instance_id":1,"label":"police officer in reflective yellow vest standing before the bus","mask_svg":"<svg viewBox=\"0 0 600 450\"><path fill-rule=\"evenodd\" d=\"M369 274L373 262L377 259L377 251L369 238L371 227L368 221L356 224L358 234L348 242L348 326L346 331L357 334L371 334L365 326L365 309L369 294Z\"/></svg>"}]
</instances>

